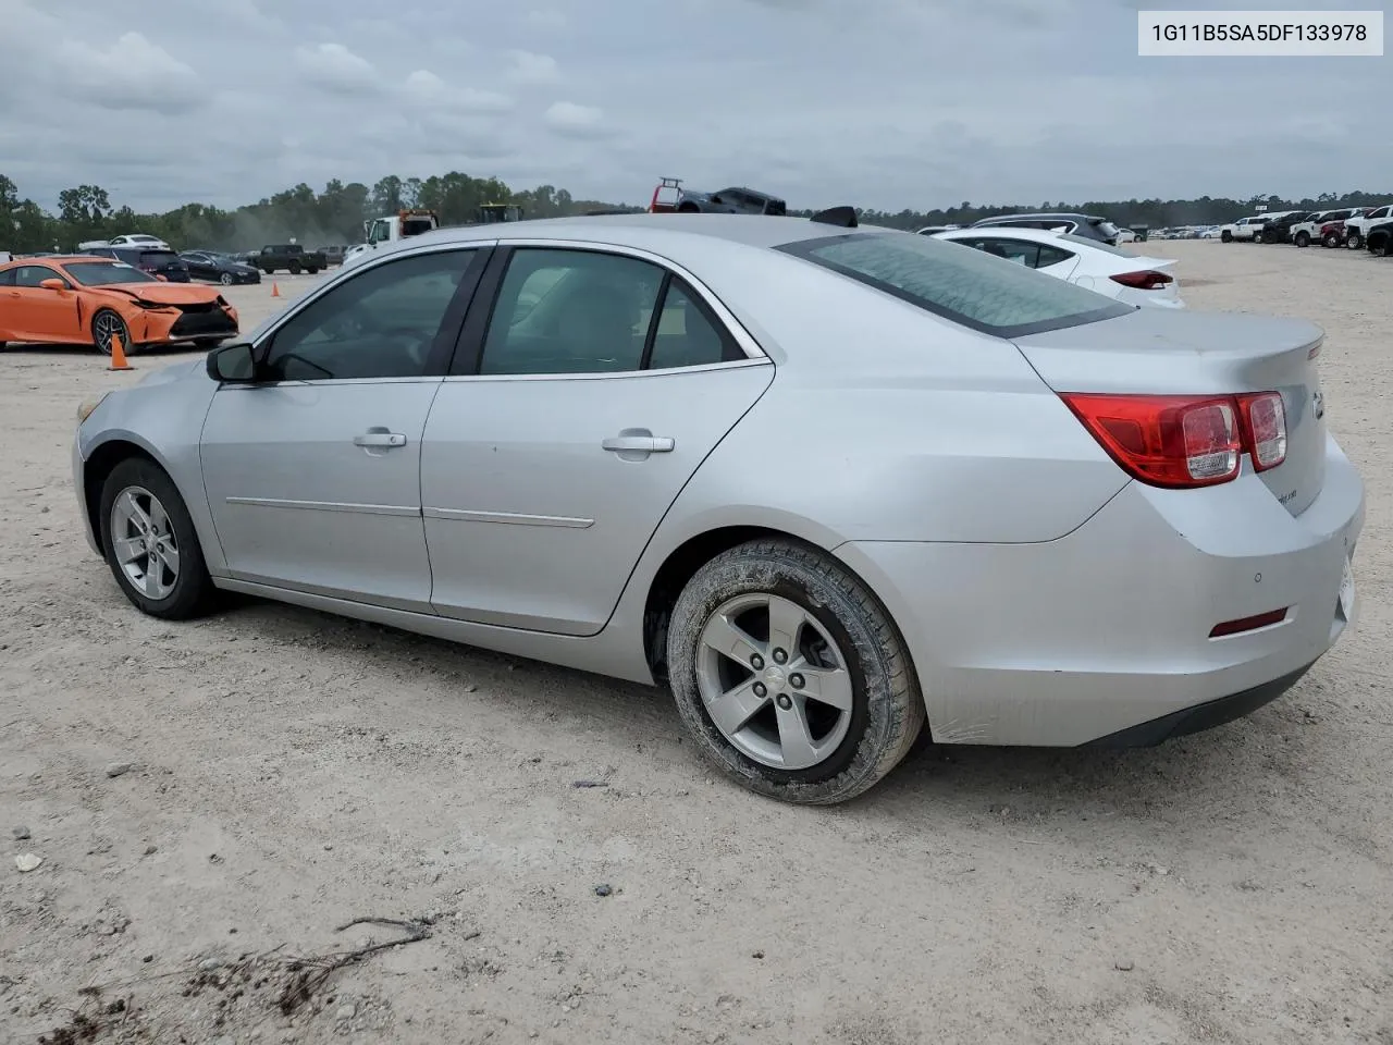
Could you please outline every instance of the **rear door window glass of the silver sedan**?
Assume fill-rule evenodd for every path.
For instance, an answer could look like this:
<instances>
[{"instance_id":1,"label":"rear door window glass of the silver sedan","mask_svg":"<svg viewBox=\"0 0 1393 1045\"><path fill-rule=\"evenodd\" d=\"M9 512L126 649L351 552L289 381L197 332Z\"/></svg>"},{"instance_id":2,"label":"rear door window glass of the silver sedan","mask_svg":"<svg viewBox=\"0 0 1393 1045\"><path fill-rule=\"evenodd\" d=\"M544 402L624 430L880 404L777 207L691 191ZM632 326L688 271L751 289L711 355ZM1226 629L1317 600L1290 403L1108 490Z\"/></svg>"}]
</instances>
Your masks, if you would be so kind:
<instances>
[{"instance_id":1,"label":"rear door window glass of the silver sedan","mask_svg":"<svg viewBox=\"0 0 1393 1045\"><path fill-rule=\"evenodd\" d=\"M657 265L522 248L499 288L479 372L617 373L742 358L696 294Z\"/></svg>"}]
</instances>

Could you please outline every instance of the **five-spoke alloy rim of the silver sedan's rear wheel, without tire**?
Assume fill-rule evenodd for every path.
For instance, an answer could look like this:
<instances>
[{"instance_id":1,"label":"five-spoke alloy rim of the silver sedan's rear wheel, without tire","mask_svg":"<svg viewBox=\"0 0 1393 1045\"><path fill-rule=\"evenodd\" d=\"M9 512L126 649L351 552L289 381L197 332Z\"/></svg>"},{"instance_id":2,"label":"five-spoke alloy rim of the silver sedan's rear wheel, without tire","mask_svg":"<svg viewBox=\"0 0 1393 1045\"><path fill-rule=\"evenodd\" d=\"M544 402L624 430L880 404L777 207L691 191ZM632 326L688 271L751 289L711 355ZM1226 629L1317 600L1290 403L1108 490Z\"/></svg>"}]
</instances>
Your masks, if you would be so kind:
<instances>
[{"instance_id":1,"label":"five-spoke alloy rim of the silver sedan's rear wheel, without tire","mask_svg":"<svg viewBox=\"0 0 1393 1045\"><path fill-rule=\"evenodd\" d=\"M740 595L706 620L696 687L712 723L741 754L808 769L847 736L855 694L847 659L822 623L791 599Z\"/></svg>"}]
</instances>

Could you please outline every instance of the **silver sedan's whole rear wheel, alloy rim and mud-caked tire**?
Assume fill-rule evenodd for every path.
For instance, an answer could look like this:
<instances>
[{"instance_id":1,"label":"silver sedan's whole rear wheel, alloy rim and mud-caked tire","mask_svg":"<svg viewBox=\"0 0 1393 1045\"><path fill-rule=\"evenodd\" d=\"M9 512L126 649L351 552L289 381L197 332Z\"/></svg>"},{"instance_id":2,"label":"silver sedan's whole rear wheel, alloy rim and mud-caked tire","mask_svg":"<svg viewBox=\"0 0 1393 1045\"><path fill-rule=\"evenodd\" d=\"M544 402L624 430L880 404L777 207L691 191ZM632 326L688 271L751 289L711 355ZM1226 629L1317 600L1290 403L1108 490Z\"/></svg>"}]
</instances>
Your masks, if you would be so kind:
<instances>
[{"instance_id":1,"label":"silver sedan's whole rear wheel, alloy rim and mud-caked tire","mask_svg":"<svg viewBox=\"0 0 1393 1045\"><path fill-rule=\"evenodd\" d=\"M886 610L836 559L793 541L751 541L696 571L673 607L667 672L701 752L788 803L861 794L924 727Z\"/></svg>"}]
</instances>

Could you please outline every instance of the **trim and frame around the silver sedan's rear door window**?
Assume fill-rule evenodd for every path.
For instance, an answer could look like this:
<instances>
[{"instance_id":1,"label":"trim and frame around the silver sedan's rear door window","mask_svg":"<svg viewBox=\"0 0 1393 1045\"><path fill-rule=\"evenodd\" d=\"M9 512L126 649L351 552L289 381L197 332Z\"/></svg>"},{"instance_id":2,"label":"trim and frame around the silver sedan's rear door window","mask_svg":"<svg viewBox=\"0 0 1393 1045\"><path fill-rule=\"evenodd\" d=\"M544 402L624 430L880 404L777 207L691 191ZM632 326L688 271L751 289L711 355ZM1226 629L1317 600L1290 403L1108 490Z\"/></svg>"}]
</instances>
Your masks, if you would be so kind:
<instances>
[{"instance_id":1,"label":"trim and frame around the silver sedan's rear door window","mask_svg":"<svg viewBox=\"0 0 1393 1045\"><path fill-rule=\"evenodd\" d=\"M510 235L496 241L496 249L493 256L489 258L489 268L483 273L479 286L475 291L474 301L469 304L469 312L465 316L464 326L460 330L460 339L456 346L454 357L450 361L446 379L469 379L469 380L593 380L596 378L602 379L617 379L617 378L638 378L649 375L663 375L663 373L687 373L690 371L706 371L716 368L731 368L731 366L748 366L751 364L766 364L772 359L765 354L759 343L749 334L748 330L736 319L734 314L726 307L726 304L716 297L716 294L696 279L688 269L678 265L677 262L664 258L660 254L653 254L652 251L645 251L638 247L628 247L624 244L607 244L595 242L588 240L552 240L552 238L538 238L538 237L521 237ZM610 254L623 258L634 258L635 261L644 261L649 265L656 266L663 272L663 284L670 286L671 279L680 279L692 291L692 302L698 309L706 311L706 319L716 326L717 330L724 330L745 354L744 359L733 359L730 362L715 362L715 364L701 364L696 366L667 366L659 371L603 371L596 373L479 373L479 365L483 361L483 341L488 337L489 322L493 319L493 311L497 307L499 293L503 290L503 276L507 272L508 262L513 254L518 249L542 249L542 251L581 251L588 254ZM659 297L659 304L662 304L662 295ZM646 358L646 343L645 343L645 358Z\"/></svg>"}]
</instances>

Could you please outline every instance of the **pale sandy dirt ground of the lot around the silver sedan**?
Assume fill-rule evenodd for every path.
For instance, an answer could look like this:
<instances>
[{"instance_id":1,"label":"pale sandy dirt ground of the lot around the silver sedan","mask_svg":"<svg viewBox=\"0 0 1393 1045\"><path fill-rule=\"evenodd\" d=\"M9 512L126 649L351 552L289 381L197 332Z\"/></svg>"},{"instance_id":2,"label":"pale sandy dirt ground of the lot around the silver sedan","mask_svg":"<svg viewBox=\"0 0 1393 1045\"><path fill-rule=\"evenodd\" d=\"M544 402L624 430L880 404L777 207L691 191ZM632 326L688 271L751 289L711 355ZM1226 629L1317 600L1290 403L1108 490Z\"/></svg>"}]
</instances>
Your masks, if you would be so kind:
<instances>
[{"instance_id":1,"label":"pale sandy dirt ground of the lot around the silver sedan","mask_svg":"<svg viewBox=\"0 0 1393 1045\"><path fill-rule=\"evenodd\" d=\"M267 603L139 616L68 447L160 359L0 354L0 1041L1393 1042L1393 262L1145 248L1192 307L1328 330L1358 631L1217 730L921 744L833 810L710 779L656 691ZM247 329L286 300L230 297ZM355 918L429 935L320 961L403 938Z\"/></svg>"}]
</instances>

